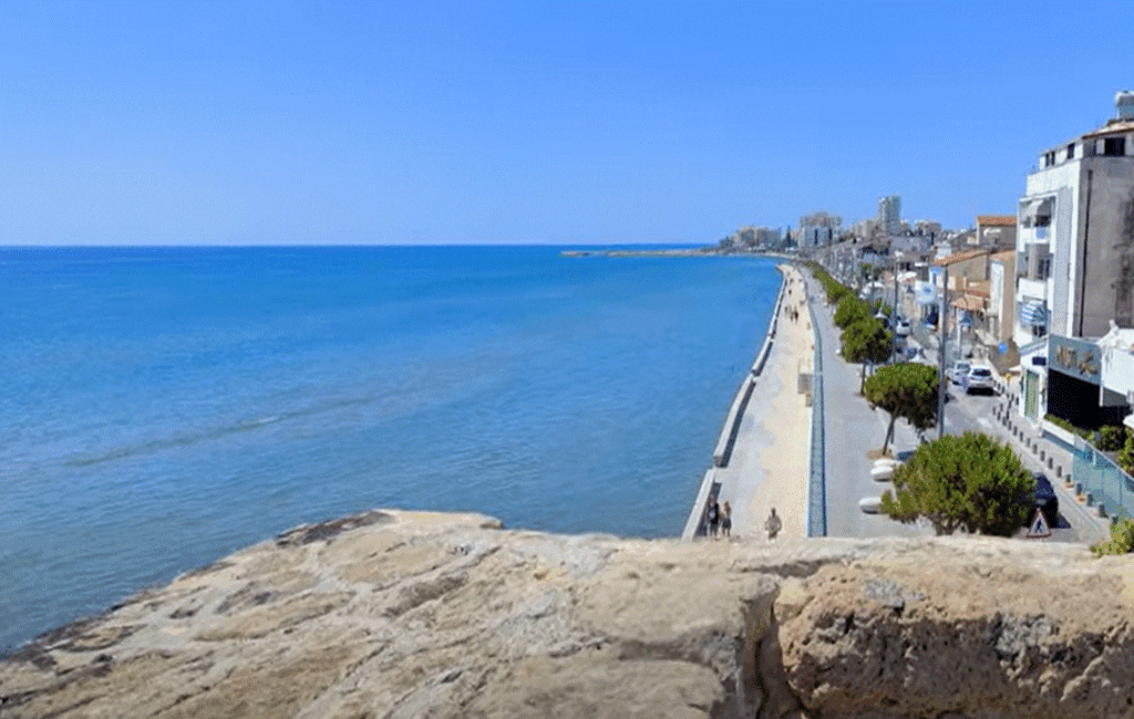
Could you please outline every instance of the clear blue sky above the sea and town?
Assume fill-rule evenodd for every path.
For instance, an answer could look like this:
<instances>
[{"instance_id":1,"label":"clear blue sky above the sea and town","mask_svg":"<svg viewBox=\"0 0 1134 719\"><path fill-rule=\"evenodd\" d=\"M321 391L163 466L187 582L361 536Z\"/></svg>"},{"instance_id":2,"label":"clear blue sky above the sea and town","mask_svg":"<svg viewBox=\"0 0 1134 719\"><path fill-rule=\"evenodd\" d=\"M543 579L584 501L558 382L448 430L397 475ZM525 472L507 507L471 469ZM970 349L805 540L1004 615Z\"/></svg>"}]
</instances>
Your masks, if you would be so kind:
<instances>
[{"instance_id":1,"label":"clear blue sky above the sea and town","mask_svg":"<svg viewBox=\"0 0 1134 719\"><path fill-rule=\"evenodd\" d=\"M0 3L0 243L716 242L1012 213L1134 2Z\"/></svg>"}]
</instances>

